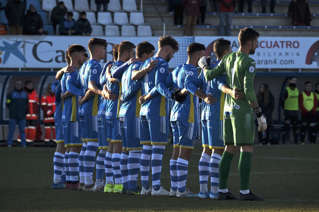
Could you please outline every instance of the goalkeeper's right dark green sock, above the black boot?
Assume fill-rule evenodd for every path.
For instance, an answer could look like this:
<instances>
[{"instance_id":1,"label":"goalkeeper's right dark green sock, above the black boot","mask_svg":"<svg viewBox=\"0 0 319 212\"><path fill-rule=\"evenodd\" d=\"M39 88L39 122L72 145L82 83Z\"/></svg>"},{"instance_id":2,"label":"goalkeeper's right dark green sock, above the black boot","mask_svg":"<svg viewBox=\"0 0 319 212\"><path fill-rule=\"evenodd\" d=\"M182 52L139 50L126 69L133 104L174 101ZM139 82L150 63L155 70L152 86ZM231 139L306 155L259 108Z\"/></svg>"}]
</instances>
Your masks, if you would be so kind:
<instances>
[{"instance_id":1,"label":"goalkeeper's right dark green sock, above the black boot","mask_svg":"<svg viewBox=\"0 0 319 212\"><path fill-rule=\"evenodd\" d=\"M249 176L251 169L251 158L253 154L251 152L241 152L238 164L238 172L240 178L240 189L249 189Z\"/></svg>"}]
</instances>

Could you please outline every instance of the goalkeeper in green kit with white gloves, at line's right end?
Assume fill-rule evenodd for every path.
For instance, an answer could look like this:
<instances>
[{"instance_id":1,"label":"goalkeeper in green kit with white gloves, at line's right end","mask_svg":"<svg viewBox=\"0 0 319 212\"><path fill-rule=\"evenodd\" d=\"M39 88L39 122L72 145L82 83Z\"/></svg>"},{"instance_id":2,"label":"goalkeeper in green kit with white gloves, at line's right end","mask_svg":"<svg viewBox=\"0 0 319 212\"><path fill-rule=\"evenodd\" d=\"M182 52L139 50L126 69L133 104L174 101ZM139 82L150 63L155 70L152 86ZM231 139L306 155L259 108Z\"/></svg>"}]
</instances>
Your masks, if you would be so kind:
<instances>
[{"instance_id":1,"label":"goalkeeper in green kit with white gloves, at line's right end","mask_svg":"<svg viewBox=\"0 0 319 212\"><path fill-rule=\"evenodd\" d=\"M266 120L254 92L256 62L249 57L249 54L255 53L258 37L257 31L246 27L238 35L239 50L226 54L215 68L208 69L210 57L202 57L198 62L198 65L204 69L207 81L225 72L227 86L232 89L240 88L240 92L243 92L244 95L243 99L226 95L224 106L224 143L226 148L219 163L219 200L263 200L262 197L254 195L249 189L255 137L253 111L257 115L258 131L263 132L267 128ZM238 146L240 146L241 154L238 164L240 193L237 198L228 191L227 180L231 162Z\"/></svg>"}]
</instances>

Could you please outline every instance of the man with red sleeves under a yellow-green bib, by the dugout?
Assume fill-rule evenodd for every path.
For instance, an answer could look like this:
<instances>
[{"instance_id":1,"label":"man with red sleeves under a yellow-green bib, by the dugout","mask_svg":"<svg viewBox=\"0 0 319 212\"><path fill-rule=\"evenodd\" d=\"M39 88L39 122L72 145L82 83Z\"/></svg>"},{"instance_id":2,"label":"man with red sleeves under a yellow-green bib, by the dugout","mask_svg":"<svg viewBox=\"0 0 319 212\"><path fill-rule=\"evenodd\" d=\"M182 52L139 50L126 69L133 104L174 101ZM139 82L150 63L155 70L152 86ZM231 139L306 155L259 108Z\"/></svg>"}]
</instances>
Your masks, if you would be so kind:
<instances>
[{"instance_id":1,"label":"man with red sleeves under a yellow-green bib, by the dugout","mask_svg":"<svg viewBox=\"0 0 319 212\"><path fill-rule=\"evenodd\" d=\"M305 82L305 90L299 94L299 106L301 110L301 144L305 144L307 128L310 132L310 143L315 144L317 135L315 114L318 100L316 95L311 92L311 82Z\"/></svg>"}]
</instances>

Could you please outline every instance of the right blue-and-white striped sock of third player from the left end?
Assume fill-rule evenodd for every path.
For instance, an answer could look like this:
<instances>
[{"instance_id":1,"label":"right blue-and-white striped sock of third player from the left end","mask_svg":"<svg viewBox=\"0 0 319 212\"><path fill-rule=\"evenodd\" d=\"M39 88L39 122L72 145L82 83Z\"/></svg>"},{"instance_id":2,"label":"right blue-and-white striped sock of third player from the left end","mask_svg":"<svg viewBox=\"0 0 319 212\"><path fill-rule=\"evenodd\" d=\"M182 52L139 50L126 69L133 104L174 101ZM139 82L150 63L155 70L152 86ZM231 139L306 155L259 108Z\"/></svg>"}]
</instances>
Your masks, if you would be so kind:
<instances>
[{"instance_id":1,"label":"right blue-and-white striped sock of third player from the left end","mask_svg":"<svg viewBox=\"0 0 319 212\"><path fill-rule=\"evenodd\" d=\"M87 148L83 157L84 165L84 184L93 184L93 171L95 165L95 155L98 150L99 143L94 141L87 142Z\"/></svg>"}]
</instances>

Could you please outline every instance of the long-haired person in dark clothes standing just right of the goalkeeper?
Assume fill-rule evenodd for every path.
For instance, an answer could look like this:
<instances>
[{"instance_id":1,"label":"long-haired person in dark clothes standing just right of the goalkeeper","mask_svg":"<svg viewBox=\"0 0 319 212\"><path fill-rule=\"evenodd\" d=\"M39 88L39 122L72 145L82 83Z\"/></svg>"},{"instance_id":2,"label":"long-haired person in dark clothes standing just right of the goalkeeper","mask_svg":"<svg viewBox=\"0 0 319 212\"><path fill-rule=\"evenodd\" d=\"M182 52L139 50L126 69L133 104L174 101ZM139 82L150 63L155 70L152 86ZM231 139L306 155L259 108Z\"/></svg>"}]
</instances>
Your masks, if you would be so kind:
<instances>
[{"instance_id":1,"label":"long-haired person in dark clothes standing just right of the goalkeeper","mask_svg":"<svg viewBox=\"0 0 319 212\"><path fill-rule=\"evenodd\" d=\"M263 117L267 121L265 144L270 145L270 128L272 126L272 111L275 107L275 98L271 94L267 84L261 84L257 94L257 102L263 111ZM258 132L259 144L263 144L263 133Z\"/></svg>"}]
</instances>

